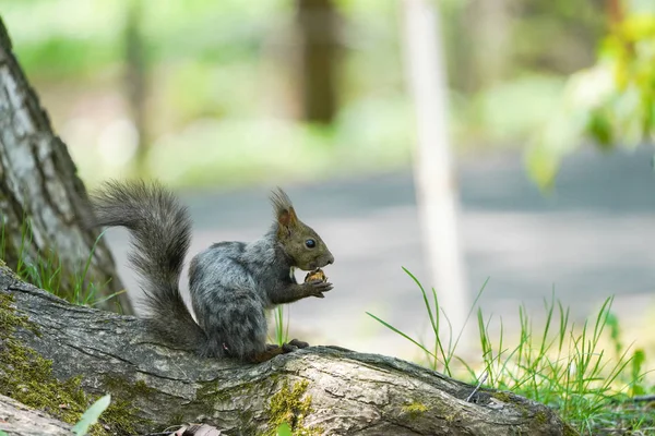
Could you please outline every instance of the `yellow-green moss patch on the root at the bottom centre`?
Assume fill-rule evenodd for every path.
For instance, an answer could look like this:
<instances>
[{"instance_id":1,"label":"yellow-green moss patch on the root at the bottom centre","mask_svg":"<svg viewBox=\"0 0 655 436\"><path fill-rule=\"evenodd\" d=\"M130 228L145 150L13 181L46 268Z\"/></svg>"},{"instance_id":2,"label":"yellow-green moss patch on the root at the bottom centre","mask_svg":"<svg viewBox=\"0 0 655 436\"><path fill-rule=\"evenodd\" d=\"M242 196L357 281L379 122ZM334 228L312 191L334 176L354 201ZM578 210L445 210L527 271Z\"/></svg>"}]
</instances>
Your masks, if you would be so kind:
<instances>
[{"instance_id":1,"label":"yellow-green moss patch on the root at the bottom centre","mask_svg":"<svg viewBox=\"0 0 655 436\"><path fill-rule=\"evenodd\" d=\"M322 434L320 427L306 427L305 416L312 413L311 396L305 396L309 382L296 383L293 387L285 382L276 392L266 408L269 416L269 429L265 435L274 436L282 423L287 423L291 432L297 436L313 436ZM305 398L303 398L305 397Z\"/></svg>"}]
</instances>

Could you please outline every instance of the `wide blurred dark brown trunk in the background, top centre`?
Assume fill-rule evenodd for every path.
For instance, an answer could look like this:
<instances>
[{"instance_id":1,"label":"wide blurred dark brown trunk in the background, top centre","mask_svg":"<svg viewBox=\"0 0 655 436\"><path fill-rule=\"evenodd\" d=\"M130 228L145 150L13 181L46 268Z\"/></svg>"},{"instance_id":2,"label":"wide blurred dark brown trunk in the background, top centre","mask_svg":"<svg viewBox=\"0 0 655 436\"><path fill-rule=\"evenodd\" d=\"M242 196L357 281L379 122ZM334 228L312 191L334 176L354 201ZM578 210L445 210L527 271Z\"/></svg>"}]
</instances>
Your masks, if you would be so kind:
<instances>
[{"instance_id":1,"label":"wide blurred dark brown trunk in the background, top centre","mask_svg":"<svg viewBox=\"0 0 655 436\"><path fill-rule=\"evenodd\" d=\"M302 118L330 124L337 107L338 15L332 0L297 0Z\"/></svg>"}]
</instances>

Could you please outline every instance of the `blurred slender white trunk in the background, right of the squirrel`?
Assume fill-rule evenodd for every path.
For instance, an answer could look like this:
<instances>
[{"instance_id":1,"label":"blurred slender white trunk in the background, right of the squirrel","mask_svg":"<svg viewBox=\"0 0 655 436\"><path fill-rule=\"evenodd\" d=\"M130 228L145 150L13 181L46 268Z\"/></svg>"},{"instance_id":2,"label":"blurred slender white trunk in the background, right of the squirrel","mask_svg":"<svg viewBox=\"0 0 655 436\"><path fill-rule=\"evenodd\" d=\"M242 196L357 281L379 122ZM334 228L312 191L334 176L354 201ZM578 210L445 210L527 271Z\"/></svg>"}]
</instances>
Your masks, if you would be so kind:
<instances>
[{"instance_id":1,"label":"blurred slender white trunk in the background, right of the squirrel","mask_svg":"<svg viewBox=\"0 0 655 436\"><path fill-rule=\"evenodd\" d=\"M457 230L458 201L448 133L440 23L431 0L405 0L403 4L407 81L417 131L414 178L424 247L439 303L451 322L450 332L456 338L465 326L469 299ZM463 339L460 344L466 347L466 337Z\"/></svg>"}]
</instances>

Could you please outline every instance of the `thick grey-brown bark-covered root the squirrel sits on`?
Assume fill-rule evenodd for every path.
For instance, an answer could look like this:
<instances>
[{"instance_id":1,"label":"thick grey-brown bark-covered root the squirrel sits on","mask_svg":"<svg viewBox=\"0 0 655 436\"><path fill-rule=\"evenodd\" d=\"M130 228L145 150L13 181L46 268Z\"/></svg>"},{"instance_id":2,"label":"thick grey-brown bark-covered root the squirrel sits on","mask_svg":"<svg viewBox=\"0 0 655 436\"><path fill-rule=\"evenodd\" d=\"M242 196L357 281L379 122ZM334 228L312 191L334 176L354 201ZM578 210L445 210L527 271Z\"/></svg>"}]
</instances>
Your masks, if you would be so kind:
<instances>
[{"instance_id":1,"label":"thick grey-brown bark-covered root the squirrel sits on","mask_svg":"<svg viewBox=\"0 0 655 436\"><path fill-rule=\"evenodd\" d=\"M543 404L485 389L466 401L473 386L393 358L311 347L257 365L201 359L153 337L142 319L72 306L2 267L1 299L12 302L0 320L25 316L36 327L13 338L51 360L58 379L80 376L90 395L130 400L135 434L203 422L262 435L279 420L303 435L575 434ZM0 375L7 368L0 362Z\"/></svg>"}]
</instances>

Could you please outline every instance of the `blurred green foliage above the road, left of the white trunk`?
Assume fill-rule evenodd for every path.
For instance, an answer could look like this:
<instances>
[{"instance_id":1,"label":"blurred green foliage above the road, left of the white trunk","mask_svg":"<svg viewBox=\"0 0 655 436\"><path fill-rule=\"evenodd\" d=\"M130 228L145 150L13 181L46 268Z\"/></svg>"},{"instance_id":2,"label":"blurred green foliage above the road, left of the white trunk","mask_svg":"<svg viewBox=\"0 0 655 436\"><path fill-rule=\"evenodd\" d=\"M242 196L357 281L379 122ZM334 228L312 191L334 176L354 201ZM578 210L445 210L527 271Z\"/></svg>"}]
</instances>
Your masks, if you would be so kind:
<instances>
[{"instance_id":1,"label":"blurred green foliage above the road, left of the white trunk","mask_svg":"<svg viewBox=\"0 0 655 436\"><path fill-rule=\"evenodd\" d=\"M117 170L133 171L132 142L111 135L115 123L132 128L120 96L130 1L0 0L21 65L47 101L87 185ZM401 55L394 44L378 44L397 38L397 5L336 2L348 19L344 24L356 29L357 45L367 49L349 49L353 37L345 34L340 112L332 129L317 129L295 120L294 104L288 105L297 83L289 81L294 66L287 59L296 49L288 32L295 3L140 1L152 84L145 114L152 144L142 167L148 175L172 185L243 184L262 177L290 183L409 162ZM97 101L106 102L102 112L110 119L75 109ZM180 146L187 150L181 160Z\"/></svg>"}]
</instances>

